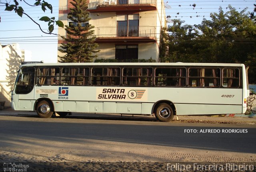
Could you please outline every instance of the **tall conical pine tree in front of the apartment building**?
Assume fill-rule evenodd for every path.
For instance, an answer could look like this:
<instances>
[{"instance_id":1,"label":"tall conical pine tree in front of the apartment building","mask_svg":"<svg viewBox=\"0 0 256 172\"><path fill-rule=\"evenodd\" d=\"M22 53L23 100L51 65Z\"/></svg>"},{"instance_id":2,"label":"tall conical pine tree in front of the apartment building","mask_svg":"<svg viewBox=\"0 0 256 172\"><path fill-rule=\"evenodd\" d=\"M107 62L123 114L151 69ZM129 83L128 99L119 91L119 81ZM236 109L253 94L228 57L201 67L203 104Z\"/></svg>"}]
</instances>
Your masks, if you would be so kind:
<instances>
[{"instance_id":1,"label":"tall conical pine tree in front of the apartment building","mask_svg":"<svg viewBox=\"0 0 256 172\"><path fill-rule=\"evenodd\" d=\"M94 26L88 24L89 12L87 12L87 0L73 0L70 2L74 7L70 8L68 19L73 21L69 26L65 26L66 36L61 38L66 43L60 45L60 52L65 53L60 57L62 63L83 63L92 62L93 58L97 57L96 53L100 50L95 50L98 44L94 42L93 36Z\"/></svg>"}]
</instances>

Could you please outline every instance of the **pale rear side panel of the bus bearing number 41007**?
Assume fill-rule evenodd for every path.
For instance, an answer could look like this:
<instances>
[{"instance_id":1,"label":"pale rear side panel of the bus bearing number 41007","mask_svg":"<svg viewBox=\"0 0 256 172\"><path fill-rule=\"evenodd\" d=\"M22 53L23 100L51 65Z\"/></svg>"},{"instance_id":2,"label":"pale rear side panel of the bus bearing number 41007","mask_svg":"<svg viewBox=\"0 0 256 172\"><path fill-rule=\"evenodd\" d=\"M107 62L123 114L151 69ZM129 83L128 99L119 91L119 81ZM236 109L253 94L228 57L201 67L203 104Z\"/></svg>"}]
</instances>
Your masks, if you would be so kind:
<instances>
[{"instance_id":1,"label":"pale rear side panel of the bus bearing number 41007","mask_svg":"<svg viewBox=\"0 0 256 172\"><path fill-rule=\"evenodd\" d=\"M230 88L152 88L148 101L168 100L177 115L242 113L243 89Z\"/></svg>"}]
</instances>

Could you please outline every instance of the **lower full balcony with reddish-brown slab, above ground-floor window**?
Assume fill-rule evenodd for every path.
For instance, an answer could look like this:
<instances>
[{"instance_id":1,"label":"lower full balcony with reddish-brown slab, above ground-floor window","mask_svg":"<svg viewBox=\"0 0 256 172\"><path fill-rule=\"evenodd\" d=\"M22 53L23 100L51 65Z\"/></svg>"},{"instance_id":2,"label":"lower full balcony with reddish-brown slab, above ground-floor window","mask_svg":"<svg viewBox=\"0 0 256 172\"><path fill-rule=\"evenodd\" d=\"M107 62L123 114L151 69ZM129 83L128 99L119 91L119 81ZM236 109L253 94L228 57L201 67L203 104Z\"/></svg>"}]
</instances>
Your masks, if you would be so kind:
<instances>
[{"instance_id":1,"label":"lower full balcony with reddish-brown slab, above ground-floor window","mask_svg":"<svg viewBox=\"0 0 256 172\"><path fill-rule=\"evenodd\" d=\"M149 43L156 42L154 26L120 26L94 28L96 43Z\"/></svg>"}]
</instances>

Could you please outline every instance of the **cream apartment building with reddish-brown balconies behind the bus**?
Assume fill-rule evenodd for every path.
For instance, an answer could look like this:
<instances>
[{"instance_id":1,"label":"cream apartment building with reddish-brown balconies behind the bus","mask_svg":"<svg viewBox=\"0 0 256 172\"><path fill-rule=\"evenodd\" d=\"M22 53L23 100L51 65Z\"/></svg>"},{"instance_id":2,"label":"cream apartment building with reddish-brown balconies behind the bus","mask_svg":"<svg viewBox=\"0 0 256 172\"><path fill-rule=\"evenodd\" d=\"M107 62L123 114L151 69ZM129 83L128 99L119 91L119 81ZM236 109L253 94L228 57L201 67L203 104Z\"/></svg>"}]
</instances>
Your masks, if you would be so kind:
<instances>
[{"instance_id":1,"label":"cream apartment building with reddish-brown balconies behind the bus","mask_svg":"<svg viewBox=\"0 0 256 172\"><path fill-rule=\"evenodd\" d=\"M64 25L72 22L67 18L70 1L59 0L59 20ZM166 26L163 0L88 0L88 12L100 49L97 59L159 61L161 30ZM59 28L58 34L66 32ZM62 42L58 41L58 48Z\"/></svg>"}]
</instances>

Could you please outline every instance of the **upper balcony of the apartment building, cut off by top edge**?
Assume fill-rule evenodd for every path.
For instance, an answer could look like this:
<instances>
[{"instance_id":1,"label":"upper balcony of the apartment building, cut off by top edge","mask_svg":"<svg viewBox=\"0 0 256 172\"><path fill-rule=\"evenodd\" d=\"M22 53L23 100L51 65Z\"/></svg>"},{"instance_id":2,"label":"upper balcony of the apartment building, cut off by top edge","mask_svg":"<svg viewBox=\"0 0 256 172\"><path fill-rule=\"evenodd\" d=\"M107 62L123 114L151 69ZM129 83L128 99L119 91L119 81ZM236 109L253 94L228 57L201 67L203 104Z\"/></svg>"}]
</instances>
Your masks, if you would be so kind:
<instances>
[{"instance_id":1,"label":"upper balcony of the apartment building, cut off by top edge","mask_svg":"<svg viewBox=\"0 0 256 172\"><path fill-rule=\"evenodd\" d=\"M90 0L89 12L156 10L156 0Z\"/></svg>"}]
</instances>

